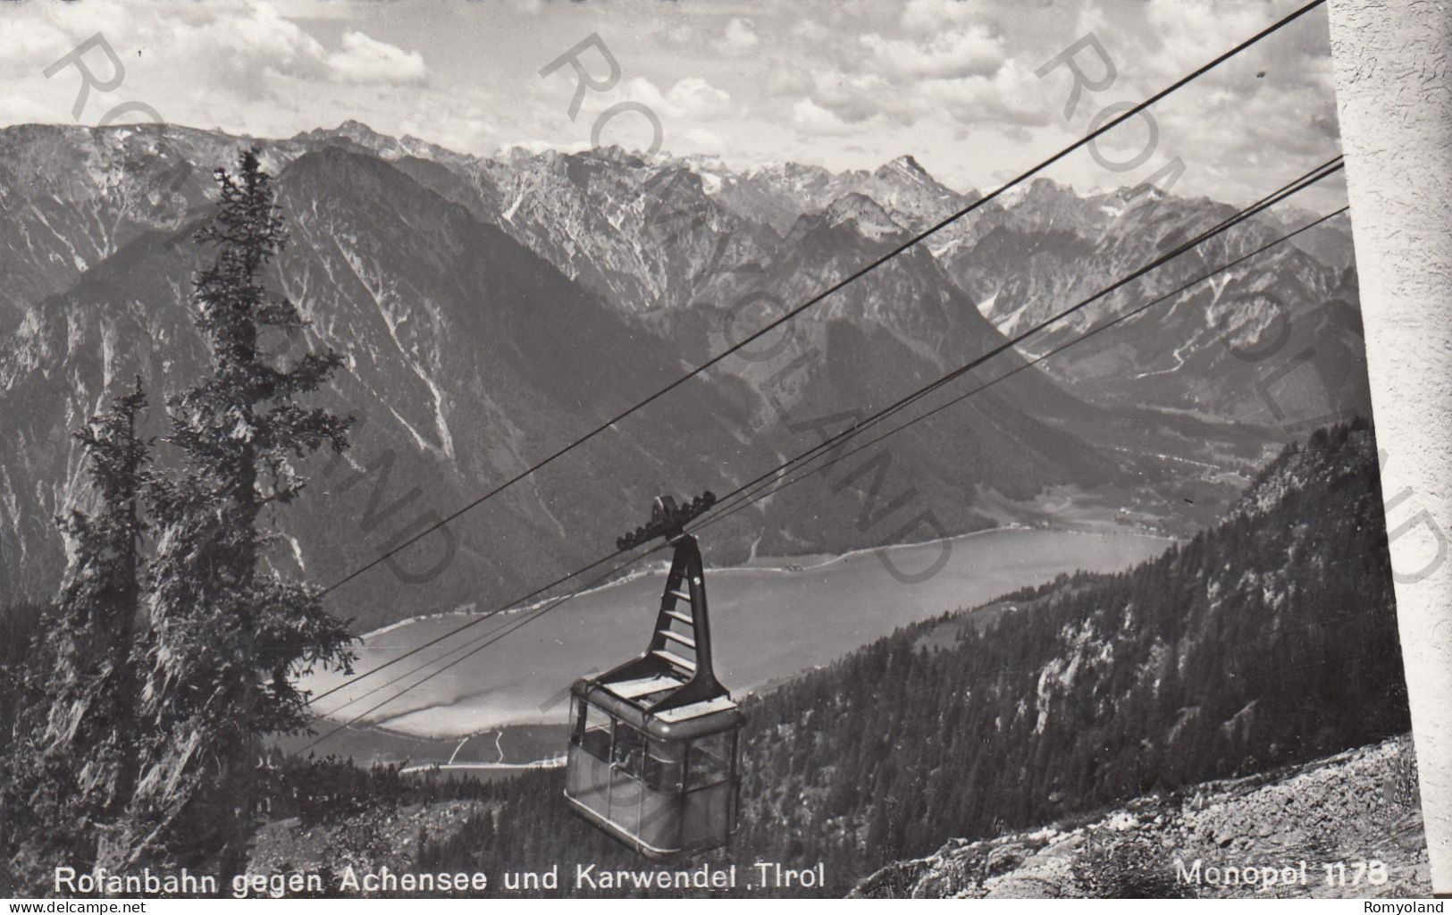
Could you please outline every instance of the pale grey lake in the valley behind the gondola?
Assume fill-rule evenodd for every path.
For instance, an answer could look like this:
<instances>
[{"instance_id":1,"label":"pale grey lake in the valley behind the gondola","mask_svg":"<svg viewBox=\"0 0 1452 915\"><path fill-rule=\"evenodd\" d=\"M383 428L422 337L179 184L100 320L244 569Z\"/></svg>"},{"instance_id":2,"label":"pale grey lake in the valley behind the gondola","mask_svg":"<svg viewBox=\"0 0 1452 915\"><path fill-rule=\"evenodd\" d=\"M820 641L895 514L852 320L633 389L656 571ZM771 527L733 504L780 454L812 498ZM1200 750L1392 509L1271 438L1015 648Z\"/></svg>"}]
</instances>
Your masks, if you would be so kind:
<instances>
[{"instance_id":1,"label":"pale grey lake in the valley behind the gondola","mask_svg":"<svg viewBox=\"0 0 1452 915\"><path fill-rule=\"evenodd\" d=\"M738 696L765 683L841 658L916 620L973 607L1076 569L1111 572L1162 553L1169 540L1131 532L996 529L910 546L839 558L781 561L780 568L707 569L717 678ZM707 564L710 545L703 545ZM922 572L905 582L884 565ZM941 559L945 558L945 562ZM317 703L335 720L370 712L360 725L424 738L452 738L523 722L560 722L569 684L639 655L650 638L665 569L656 568L581 594L421 683L460 658L499 626L521 616L501 614L431 646ZM354 670L367 671L411 648L478 619L447 614L409 620L364 636ZM430 664L437 661L437 664ZM415 667L425 668L409 674ZM315 693L340 683L315 674ZM383 684L398 680L383 687ZM354 702L356 700L356 702ZM319 747L325 752L327 747Z\"/></svg>"}]
</instances>

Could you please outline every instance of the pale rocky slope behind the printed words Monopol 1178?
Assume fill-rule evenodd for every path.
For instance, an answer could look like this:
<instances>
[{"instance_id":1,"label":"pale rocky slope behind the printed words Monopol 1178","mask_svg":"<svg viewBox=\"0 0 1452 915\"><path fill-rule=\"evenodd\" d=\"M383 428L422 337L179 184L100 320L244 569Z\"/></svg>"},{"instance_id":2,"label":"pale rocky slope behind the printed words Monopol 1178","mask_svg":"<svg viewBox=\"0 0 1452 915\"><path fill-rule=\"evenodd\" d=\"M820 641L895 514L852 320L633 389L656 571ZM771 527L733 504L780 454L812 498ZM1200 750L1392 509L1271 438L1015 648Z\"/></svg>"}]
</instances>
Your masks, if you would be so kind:
<instances>
[{"instance_id":1,"label":"pale rocky slope behind the printed words Monopol 1178","mask_svg":"<svg viewBox=\"0 0 1452 915\"><path fill-rule=\"evenodd\" d=\"M1255 882L1237 880L1233 867L1281 873L1268 884L1259 873ZM1410 736L1400 736L1276 773L1140 797L1092 819L976 842L955 839L925 858L878 870L852 896L1366 898L1430 892L1416 762Z\"/></svg>"}]
</instances>

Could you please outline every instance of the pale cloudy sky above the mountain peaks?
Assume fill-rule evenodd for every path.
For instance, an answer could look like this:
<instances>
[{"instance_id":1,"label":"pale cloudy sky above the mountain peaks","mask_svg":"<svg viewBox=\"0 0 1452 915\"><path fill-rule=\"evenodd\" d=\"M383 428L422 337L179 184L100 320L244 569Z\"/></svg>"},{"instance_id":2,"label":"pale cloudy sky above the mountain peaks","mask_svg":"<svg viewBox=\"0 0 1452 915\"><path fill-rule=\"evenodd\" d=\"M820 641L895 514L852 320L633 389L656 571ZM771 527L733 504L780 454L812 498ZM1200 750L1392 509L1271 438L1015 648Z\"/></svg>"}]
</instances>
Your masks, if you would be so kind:
<instances>
[{"instance_id":1,"label":"pale cloudy sky above the mountain peaks","mask_svg":"<svg viewBox=\"0 0 1452 915\"><path fill-rule=\"evenodd\" d=\"M94 125L122 103L234 134L287 137L357 119L475 154L645 147L871 168L913 154L958 189L992 187L1291 12L1302 0L29 0L0 7L0 125ZM81 55L106 90L74 113ZM597 84L575 116L571 48ZM1096 89L1070 106L1076 41ZM48 77L46 68L52 73ZM113 83L115 87L110 87ZM611 106L613 118L603 118ZM633 109L633 110L632 110ZM1115 113L1109 112L1111 116ZM1080 190L1144 180L1240 202L1339 151L1324 7L1133 119L1053 177ZM118 121L142 121L132 107ZM1106 167L1108 163L1109 166ZM1323 199L1330 199L1330 193ZM1316 199L1308 199L1316 202Z\"/></svg>"}]
</instances>

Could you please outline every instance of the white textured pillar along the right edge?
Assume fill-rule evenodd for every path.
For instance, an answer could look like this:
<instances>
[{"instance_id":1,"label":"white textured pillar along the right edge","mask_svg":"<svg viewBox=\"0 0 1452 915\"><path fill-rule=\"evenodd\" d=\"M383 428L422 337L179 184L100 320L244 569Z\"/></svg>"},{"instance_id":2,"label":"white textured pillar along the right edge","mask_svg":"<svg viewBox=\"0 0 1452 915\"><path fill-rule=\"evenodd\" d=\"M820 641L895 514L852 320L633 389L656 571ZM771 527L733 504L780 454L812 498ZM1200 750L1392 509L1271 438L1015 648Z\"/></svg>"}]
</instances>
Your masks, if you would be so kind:
<instances>
[{"instance_id":1,"label":"white textured pillar along the right edge","mask_svg":"<svg viewBox=\"0 0 1452 915\"><path fill-rule=\"evenodd\" d=\"M1330 7L1422 809L1452 893L1452 3Z\"/></svg>"}]
</instances>

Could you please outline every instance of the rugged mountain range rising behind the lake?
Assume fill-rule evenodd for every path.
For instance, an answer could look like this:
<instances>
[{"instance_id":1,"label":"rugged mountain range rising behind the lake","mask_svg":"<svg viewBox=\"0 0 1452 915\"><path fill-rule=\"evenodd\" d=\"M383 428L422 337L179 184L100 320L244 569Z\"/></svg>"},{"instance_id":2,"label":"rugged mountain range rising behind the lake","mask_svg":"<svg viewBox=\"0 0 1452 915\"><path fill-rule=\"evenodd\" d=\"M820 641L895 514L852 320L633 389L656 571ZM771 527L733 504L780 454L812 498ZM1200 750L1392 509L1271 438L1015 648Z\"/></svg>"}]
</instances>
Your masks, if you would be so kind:
<instances>
[{"instance_id":1,"label":"rugged mountain range rising behind the lake","mask_svg":"<svg viewBox=\"0 0 1452 915\"><path fill-rule=\"evenodd\" d=\"M164 436L164 398L197 376L189 234L212 170L245 147L276 176L290 234L273 288L312 322L274 344L341 353L322 396L362 421L277 518L290 549L273 562L318 584L979 199L912 157L738 171L619 148L475 157L356 122L287 139L6 128L0 604L49 593L64 568L51 518L89 498L70 433L139 375ZM372 626L530 591L608 553L652 497L730 491L1231 212L1048 180L990 200L340 590L340 611ZM1237 228L953 392L1286 224L1302 219ZM1199 527L1286 428L1369 410L1349 259L1331 221L733 516L710 558L1002 523Z\"/></svg>"}]
</instances>

